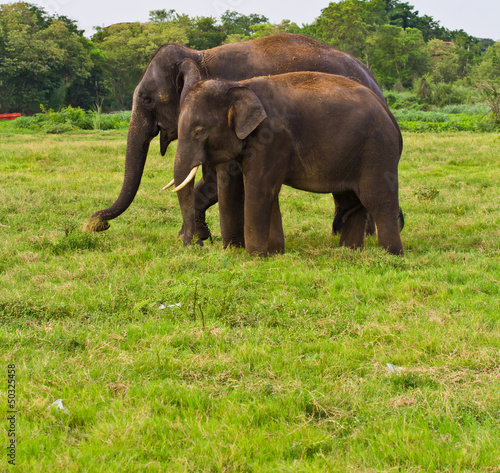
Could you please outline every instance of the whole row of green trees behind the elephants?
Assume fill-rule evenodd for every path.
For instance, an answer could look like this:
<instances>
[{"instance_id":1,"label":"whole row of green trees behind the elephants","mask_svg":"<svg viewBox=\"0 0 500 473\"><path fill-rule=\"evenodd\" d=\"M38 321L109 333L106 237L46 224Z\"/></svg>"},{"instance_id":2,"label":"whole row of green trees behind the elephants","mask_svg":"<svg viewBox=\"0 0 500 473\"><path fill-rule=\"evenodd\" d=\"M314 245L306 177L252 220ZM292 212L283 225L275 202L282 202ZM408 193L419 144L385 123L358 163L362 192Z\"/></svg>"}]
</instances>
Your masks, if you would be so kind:
<instances>
[{"instance_id":1,"label":"whole row of green trees behind the elephants","mask_svg":"<svg viewBox=\"0 0 500 473\"><path fill-rule=\"evenodd\" d=\"M400 0L332 2L302 26L235 11L214 18L154 10L146 23L96 27L90 39L75 20L17 2L0 5L0 112L30 114L40 105L130 109L134 87L161 45L201 50L283 32L356 56L383 88L411 89L422 104L466 100L476 87L498 106L500 43L448 30Z\"/></svg>"}]
</instances>

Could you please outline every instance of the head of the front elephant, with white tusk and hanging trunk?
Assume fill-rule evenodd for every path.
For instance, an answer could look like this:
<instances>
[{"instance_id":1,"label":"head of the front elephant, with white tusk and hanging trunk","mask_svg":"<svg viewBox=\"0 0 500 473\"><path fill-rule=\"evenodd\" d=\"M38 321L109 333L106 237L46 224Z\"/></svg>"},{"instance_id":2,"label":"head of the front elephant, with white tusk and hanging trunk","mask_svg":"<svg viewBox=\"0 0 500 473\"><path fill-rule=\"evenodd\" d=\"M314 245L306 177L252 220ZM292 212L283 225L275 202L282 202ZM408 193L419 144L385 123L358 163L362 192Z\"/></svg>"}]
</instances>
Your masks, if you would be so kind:
<instances>
[{"instance_id":1,"label":"head of the front elephant, with white tusk and hanging trunk","mask_svg":"<svg viewBox=\"0 0 500 473\"><path fill-rule=\"evenodd\" d=\"M244 140L266 117L254 92L228 82L200 82L183 100L174 164L177 187L172 192L178 193L185 245L195 234L194 177L199 166L205 174L215 165L236 159Z\"/></svg>"}]
</instances>

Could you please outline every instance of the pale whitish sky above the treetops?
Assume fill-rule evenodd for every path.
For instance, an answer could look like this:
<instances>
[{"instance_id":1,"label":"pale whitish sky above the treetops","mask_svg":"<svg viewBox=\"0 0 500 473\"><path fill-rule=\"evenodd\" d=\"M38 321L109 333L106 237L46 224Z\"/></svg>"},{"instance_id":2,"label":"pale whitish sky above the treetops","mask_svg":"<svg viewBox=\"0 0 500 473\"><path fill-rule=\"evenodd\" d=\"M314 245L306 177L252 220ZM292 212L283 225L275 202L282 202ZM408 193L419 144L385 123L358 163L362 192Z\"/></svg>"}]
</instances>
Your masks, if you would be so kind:
<instances>
[{"instance_id":1,"label":"pale whitish sky above the treetops","mask_svg":"<svg viewBox=\"0 0 500 473\"><path fill-rule=\"evenodd\" d=\"M218 17L226 10L243 14L258 13L271 22L283 19L299 26L311 23L328 6L328 0L28 0L50 13L57 12L77 20L86 36L93 26L146 21L150 10L174 9L189 16ZM13 3L3 1L1 3ZM500 41L500 0L408 0L420 15L430 15L450 30L463 29L479 38Z\"/></svg>"}]
</instances>

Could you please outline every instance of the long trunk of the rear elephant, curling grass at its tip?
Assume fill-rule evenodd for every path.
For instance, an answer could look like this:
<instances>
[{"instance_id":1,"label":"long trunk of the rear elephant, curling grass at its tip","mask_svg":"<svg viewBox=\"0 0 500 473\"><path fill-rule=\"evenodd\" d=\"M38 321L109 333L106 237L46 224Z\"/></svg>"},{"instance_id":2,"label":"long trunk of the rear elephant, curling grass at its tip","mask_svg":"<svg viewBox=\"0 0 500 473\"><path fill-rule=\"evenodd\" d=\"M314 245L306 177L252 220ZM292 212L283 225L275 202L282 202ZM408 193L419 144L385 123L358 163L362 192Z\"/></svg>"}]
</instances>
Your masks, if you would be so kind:
<instances>
[{"instance_id":1,"label":"long trunk of the rear elephant, curling grass at its tip","mask_svg":"<svg viewBox=\"0 0 500 473\"><path fill-rule=\"evenodd\" d=\"M92 215L87 228L94 231L102 231L109 228L108 220L112 220L128 209L135 198L144 171L144 164L149 150L149 143L155 136L156 130L152 130L147 117L138 113L132 113L127 136L127 152L125 155L125 176L120 195L115 203L104 210L99 210Z\"/></svg>"}]
</instances>

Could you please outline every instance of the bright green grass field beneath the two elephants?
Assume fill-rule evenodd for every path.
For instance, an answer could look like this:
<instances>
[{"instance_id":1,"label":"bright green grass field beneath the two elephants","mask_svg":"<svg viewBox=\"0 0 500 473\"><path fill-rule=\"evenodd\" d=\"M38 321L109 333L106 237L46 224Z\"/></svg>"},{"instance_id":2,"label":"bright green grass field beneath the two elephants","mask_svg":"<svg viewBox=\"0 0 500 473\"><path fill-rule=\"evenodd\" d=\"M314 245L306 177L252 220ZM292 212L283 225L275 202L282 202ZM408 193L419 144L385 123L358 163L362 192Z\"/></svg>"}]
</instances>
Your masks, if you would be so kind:
<instances>
[{"instance_id":1,"label":"bright green grass field beneath the two elephants","mask_svg":"<svg viewBox=\"0 0 500 473\"><path fill-rule=\"evenodd\" d=\"M174 147L91 234L126 132L0 135L0 471L500 472L500 137L404 139L403 258L285 188L287 252L256 259L216 209L182 247Z\"/></svg>"}]
</instances>

